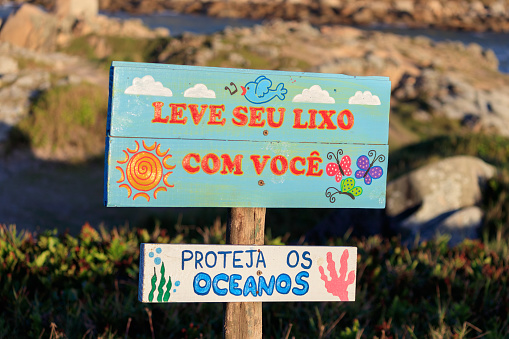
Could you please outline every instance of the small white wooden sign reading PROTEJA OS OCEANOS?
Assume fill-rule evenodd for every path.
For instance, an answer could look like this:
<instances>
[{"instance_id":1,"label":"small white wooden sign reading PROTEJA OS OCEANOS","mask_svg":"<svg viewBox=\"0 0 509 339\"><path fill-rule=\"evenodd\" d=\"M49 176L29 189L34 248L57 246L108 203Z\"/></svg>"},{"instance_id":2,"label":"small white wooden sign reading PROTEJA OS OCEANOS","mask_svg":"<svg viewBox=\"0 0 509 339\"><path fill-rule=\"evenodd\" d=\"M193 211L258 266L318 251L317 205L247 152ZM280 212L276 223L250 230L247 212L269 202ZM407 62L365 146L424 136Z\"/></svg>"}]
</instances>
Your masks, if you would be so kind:
<instances>
[{"instance_id":1,"label":"small white wooden sign reading PROTEJA OS OCEANOS","mask_svg":"<svg viewBox=\"0 0 509 339\"><path fill-rule=\"evenodd\" d=\"M142 302L354 301L355 247L142 244Z\"/></svg>"}]
</instances>

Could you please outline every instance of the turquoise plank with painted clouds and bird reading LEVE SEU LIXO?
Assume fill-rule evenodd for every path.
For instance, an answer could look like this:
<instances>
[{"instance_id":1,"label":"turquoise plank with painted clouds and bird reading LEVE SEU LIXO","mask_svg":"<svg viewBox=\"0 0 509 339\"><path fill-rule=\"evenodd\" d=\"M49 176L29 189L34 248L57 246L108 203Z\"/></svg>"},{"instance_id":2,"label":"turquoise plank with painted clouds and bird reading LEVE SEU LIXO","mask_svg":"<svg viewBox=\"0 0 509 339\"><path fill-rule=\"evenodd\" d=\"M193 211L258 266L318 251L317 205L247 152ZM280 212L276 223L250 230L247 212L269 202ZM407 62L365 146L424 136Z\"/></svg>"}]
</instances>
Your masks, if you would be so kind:
<instances>
[{"instance_id":1,"label":"turquoise plank with painted clouds and bird reading LEVE SEU LIXO","mask_svg":"<svg viewBox=\"0 0 509 339\"><path fill-rule=\"evenodd\" d=\"M111 136L387 144L385 77L113 63Z\"/></svg>"}]
</instances>

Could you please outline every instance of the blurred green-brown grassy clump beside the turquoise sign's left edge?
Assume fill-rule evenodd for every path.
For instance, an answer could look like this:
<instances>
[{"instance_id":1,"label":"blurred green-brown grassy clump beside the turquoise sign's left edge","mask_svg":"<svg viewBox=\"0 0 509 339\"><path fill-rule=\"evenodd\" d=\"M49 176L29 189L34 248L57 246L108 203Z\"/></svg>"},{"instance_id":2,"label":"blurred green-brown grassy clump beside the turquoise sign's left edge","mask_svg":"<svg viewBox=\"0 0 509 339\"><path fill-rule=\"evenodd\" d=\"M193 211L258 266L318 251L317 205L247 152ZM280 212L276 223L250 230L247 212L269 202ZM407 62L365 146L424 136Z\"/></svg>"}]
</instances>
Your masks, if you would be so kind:
<instances>
[{"instance_id":1,"label":"blurred green-brown grassy clump beside the turquoise sign's left edge","mask_svg":"<svg viewBox=\"0 0 509 339\"><path fill-rule=\"evenodd\" d=\"M12 139L48 154L67 153L71 160L99 156L104 152L107 98L106 89L90 84L53 87L35 99Z\"/></svg>"}]
</instances>

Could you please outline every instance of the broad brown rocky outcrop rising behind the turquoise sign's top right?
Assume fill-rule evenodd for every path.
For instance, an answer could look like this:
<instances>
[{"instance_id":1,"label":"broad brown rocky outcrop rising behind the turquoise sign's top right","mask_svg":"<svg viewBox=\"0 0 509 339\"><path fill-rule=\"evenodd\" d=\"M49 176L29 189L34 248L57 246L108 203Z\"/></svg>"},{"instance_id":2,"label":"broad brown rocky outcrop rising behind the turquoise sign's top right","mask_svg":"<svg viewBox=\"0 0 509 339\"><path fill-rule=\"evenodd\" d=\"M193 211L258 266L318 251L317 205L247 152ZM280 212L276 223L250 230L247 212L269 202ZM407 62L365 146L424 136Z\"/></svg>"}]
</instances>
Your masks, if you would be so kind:
<instances>
[{"instance_id":1,"label":"broad brown rocky outcrop rising behind the turquoise sign's top right","mask_svg":"<svg viewBox=\"0 0 509 339\"><path fill-rule=\"evenodd\" d=\"M358 4L349 6L351 15L358 12ZM478 44L439 43L344 26L316 29L309 23L281 20L228 28L212 35L208 45L198 36L182 39L177 47L178 41L169 44L176 48L167 47L161 53L160 62L181 55L187 63L207 65L215 59L225 67L249 67L235 52L247 50L278 69L387 76L396 99L393 107L409 104L416 111L426 111L408 112L416 120L454 119L471 132L509 136L509 76L497 71L494 53ZM230 57L231 53L237 54Z\"/></svg>"}]
</instances>

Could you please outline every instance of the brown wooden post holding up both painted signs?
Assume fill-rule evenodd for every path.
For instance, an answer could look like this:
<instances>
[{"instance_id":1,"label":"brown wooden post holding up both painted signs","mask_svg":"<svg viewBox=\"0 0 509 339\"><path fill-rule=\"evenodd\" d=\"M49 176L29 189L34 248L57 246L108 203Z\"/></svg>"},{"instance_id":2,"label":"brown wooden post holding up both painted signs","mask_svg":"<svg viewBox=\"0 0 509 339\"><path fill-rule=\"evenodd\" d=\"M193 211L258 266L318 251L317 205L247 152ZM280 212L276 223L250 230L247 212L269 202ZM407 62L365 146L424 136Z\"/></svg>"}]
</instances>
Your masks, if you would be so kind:
<instances>
[{"instance_id":1,"label":"brown wooden post holding up both painted signs","mask_svg":"<svg viewBox=\"0 0 509 339\"><path fill-rule=\"evenodd\" d=\"M230 208L226 242L232 245L263 245L265 239L265 208ZM262 337L262 303L226 303L224 338Z\"/></svg>"}]
</instances>

